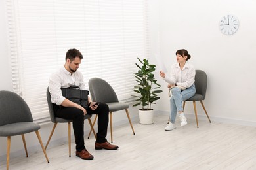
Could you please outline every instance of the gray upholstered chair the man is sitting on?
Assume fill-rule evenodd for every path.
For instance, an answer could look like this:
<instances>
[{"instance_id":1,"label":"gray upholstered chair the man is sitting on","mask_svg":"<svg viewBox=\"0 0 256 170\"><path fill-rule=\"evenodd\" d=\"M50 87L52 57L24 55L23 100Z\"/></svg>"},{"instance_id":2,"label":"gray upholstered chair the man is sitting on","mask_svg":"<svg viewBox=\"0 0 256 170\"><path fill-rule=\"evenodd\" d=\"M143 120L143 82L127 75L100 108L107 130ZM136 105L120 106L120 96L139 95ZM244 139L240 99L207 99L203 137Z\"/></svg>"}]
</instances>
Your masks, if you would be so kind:
<instances>
[{"instance_id":1,"label":"gray upholstered chair the man is sitting on","mask_svg":"<svg viewBox=\"0 0 256 170\"><path fill-rule=\"evenodd\" d=\"M49 139L47 141L47 144L45 145L45 150L47 149L47 146L51 140L51 137L53 136L54 130L57 126L58 123L68 123L68 151L69 151L69 156L71 156L71 130L70 130L70 123L72 122L72 120L67 120L64 118L58 118L55 116L54 114L54 109L53 109L53 103L51 102L51 94L49 92L49 88L47 88L46 90L46 96L47 96L47 103L48 103L48 108L49 108L49 114L50 114L50 118L51 121L54 123L53 129L51 131L51 134L49 135ZM95 134L95 130L93 129L93 124L91 123L91 115L86 114L85 119L88 120L90 126L91 126L91 130L93 130L93 134L95 135L95 139L96 139L96 134Z\"/></svg>"}]
</instances>

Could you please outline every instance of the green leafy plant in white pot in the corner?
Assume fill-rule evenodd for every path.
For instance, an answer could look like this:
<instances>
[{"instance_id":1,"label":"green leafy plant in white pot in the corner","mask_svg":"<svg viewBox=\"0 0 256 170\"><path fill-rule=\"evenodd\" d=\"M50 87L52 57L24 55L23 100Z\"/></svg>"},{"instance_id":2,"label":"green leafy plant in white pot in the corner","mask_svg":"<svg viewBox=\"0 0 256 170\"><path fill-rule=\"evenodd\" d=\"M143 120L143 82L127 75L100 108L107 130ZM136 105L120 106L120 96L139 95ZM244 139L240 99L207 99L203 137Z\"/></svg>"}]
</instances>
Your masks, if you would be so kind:
<instances>
[{"instance_id":1,"label":"green leafy plant in white pot in the corner","mask_svg":"<svg viewBox=\"0 0 256 170\"><path fill-rule=\"evenodd\" d=\"M139 95L132 95L136 97L135 104L133 107L141 105L142 108L139 109L139 118L140 124L153 124L153 109L151 108L154 101L160 99L158 93L163 92L162 90L157 90L161 87L154 78L154 71L156 70L156 65L148 63L147 59L140 60L137 58L141 66L137 63L136 66L139 68L135 74L136 81L139 83L137 86L134 86L134 92L139 93Z\"/></svg>"}]
</instances>

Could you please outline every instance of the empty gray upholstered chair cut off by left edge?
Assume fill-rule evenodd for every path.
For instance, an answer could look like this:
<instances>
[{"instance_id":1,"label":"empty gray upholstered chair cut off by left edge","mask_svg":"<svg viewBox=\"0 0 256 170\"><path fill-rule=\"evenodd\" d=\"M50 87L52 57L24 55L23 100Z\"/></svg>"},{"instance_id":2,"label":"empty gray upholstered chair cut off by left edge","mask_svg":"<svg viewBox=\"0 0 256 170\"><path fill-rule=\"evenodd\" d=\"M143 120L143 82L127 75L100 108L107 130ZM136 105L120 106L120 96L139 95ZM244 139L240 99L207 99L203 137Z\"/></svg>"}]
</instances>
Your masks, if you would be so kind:
<instances>
[{"instance_id":1,"label":"empty gray upholstered chair cut off by left edge","mask_svg":"<svg viewBox=\"0 0 256 170\"><path fill-rule=\"evenodd\" d=\"M14 92L0 91L0 136L7 137L7 169L9 169L11 136L22 135L26 156L28 157L24 134L33 131L35 131L45 158L49 163L39 134L40 128L39 124L33 122L30 108L22 97Z\"/></svg>"}]
</instances>

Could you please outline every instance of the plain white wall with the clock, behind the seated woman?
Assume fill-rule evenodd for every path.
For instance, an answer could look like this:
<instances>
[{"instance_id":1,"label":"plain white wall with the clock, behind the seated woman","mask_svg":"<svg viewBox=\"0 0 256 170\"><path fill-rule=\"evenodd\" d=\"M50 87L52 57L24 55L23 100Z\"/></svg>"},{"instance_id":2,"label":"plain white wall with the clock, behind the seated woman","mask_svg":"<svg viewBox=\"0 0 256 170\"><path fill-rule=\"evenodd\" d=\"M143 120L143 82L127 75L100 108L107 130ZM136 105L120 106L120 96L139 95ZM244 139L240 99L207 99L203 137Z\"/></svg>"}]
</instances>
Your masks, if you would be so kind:
<instances>
[{"instance_id":1,"label":"plain white wall with the clock, behind the seated woman","mask_svg":"<svg viewBox=\"0 0 256 170\"><path fill-rule=\"evenodd\" d=\"M151 43L152 52L160 46L161 59L169 67L175 63L177 50L188 50L192 55L190 63L208 75L204 103L209 116L213 120L256 125L253 107L256 95L256 1L160 0L151 3L155 3L155 9L150 13L154 16L152 19L160 23L158 45L154 44L158 42L156 22L151 21L155 27L152 29L155 32L151 31L151 36L155 38ZM234 35L223 35L219 31L219 20L226 14L234 14L240 20L240 27ZM167 86L163 80L160 82L163 88ZM166 88L158 103L161 103L159 110L169 112ZM187 104L186 111L194 112L192 103ZM198 112L204 114L202 109Z\"/></svg>"}]
</instances>

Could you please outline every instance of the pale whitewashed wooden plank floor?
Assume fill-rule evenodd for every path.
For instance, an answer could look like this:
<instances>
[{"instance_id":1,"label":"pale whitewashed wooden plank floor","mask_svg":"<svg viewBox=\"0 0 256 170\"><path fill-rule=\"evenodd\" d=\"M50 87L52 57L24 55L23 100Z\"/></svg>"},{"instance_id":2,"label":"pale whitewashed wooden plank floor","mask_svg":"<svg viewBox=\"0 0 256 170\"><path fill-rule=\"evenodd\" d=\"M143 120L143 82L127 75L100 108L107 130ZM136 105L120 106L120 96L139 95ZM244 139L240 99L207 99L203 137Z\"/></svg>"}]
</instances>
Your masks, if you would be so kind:
<instances>
[{"instance_id":1,"label":"pale whitewashed wooden plank floor","mask_svg":"<svg viewBox=\"0 0 256 170\"><path fill-rule=\"evenodd\" d=\"M188 125L164 131L167 116L154 120L152 125L133 122L135 135L128 123L114 127L119 150L95 150L93 136L85 137L94 160L76 157L72 140L71 157L66 142L47 148L49 164L40 151L10 158L10 169L256 169L256 127L200 120L196 128L190 118ZM5 169L5 161L0 163Z\"/></svg>"}]
</instances>

